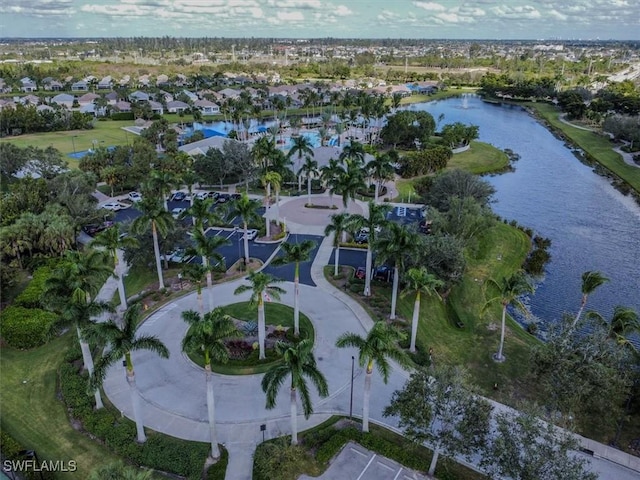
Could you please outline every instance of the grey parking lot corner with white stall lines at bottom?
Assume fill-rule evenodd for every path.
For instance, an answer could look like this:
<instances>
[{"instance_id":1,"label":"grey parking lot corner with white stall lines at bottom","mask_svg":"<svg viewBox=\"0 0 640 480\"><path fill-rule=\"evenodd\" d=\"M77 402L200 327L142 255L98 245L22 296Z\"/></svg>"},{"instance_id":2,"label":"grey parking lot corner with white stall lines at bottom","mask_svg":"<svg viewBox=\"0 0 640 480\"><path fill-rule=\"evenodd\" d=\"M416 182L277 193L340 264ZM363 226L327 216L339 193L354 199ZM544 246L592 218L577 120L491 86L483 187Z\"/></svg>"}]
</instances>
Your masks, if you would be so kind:
<instances>
[{"instance_id":1,"label":"grey parking lot corner with white stall lines at bottom","mask_svg":"<svg viewBox=\"0 0 640 480\"><path fill-rule=\"evenodd\" d=\"M427 466L425 465L425 468ZM319 477L302 475L300 480L426 480L427 477L371 450L347 443L331 466Z\"/></svg>"}]
</instances>

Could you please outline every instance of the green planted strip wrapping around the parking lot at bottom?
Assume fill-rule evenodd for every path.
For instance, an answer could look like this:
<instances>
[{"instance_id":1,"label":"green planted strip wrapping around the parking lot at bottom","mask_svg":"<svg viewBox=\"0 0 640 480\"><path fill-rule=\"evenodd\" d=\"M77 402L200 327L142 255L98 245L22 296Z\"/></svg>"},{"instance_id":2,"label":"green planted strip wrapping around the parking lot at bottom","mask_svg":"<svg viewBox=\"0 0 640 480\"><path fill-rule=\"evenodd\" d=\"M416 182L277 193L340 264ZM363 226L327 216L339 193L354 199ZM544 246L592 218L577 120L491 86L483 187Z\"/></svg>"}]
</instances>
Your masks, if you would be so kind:
<instances>
[{"instance_id":1,"label":"green planted strip wrapping around the parking lot at bottom","mask_svg":"<svg viewBox=\"0 0 640 480\"><path fill-rule=\"evenodd\" d=\"M294 480L302 474L318 476L329 468L329 461L335 457L342 447L349 441L356 442L363 447L397 461L405 467L425 472L431 462L432 452L430 449L416 445L410 440L398 435L391 430L378 425L370 425L370 433L360 431L357 421L349 422L346 418L332 417L315 428L302 432L299 435L300 445L307 451L307 461L299 462L297 465L287 462L287 455L280 456L282 470L289 475L282 475L278 478L282 480ZM285 441L288 437L285 437ZM258 445L256 456L261 449L268 448L269 444L282 444L283 439L278 438ZM260 475L254 465L253 478L262 480L264 475ZM449 480L465 479L480 480L485 476L447 460L440 458L436 469L436 478L447 478Z\"/></svg>"}]
</instances>

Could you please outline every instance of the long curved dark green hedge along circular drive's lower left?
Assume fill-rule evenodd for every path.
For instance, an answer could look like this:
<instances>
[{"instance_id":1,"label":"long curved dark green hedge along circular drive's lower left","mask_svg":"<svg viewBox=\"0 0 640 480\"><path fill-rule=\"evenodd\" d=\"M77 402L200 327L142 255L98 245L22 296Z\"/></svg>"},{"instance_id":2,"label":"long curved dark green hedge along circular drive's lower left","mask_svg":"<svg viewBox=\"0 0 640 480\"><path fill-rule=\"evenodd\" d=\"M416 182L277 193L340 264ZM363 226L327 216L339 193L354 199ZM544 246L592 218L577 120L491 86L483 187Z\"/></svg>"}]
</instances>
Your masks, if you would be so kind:
<instances>
[{"instance_id":1,"label":"long curved dark green hedge along circular drive's lower left","mask_svg":"<svg viewBox=\"0 0 640 480\"><path fill-rule=\"evenodd\" d=\"M78 354L77 349L68 354L60 367L60 390L70 415L82 423L84 430L136 465L194 480L202 478L209 444L157 432L149 432L147 441L138 444L134 422L110 407L94 410L92 397L87 394L87 376L80 374L78 367L70 363L79 358ZM209 480L224 479L228 454L222 446L221 452L220 461L207 472Z\"/></svg>"}]
</instances>

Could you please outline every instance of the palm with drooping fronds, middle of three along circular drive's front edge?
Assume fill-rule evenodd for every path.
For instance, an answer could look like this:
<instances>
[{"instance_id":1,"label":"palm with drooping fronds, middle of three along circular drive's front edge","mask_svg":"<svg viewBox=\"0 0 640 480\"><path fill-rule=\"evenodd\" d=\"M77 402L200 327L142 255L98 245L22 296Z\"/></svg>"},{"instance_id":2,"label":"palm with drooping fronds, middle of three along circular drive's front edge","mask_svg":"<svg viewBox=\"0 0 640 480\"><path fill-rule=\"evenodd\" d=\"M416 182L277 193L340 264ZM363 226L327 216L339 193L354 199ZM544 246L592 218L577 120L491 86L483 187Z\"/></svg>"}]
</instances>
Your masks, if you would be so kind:
<instances>
[{"instance_id":1,"label":"palm with drooping fronds, middle of three along circular drive's front edge","mask_svg":"<svg viewBox=\"0 0 640 480\"><path fill-rule=\"evenodd\" d=\"M276 406L276 397L280 387L291 376L290 401L291 401L291 445L298 444L298 391L302 401L302 411L305 418L313 413L311 395L306 379L310 379L315 385L320 397L329 395L327 380L318 369L316 359L313 356L313 342L309 339L291 345L288 343L276 343L276 352L282 356L283 363L274 365L262 378L262 391L267 396L267 408L271 410Z\"/></svg>"}]
</instances>

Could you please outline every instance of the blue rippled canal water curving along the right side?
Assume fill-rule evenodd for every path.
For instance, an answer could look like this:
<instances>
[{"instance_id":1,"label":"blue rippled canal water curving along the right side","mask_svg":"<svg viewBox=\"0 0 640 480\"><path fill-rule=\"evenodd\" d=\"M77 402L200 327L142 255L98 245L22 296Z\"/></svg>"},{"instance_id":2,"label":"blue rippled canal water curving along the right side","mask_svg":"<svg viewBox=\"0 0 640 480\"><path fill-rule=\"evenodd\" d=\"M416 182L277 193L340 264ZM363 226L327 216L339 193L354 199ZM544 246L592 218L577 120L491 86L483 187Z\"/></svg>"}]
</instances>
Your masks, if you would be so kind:
<instances>
[{"instance_id":1,"label":"blue rippled canal water curving along the right side","mask_svg":"<svg viewBox=\"0 0 640 480\"><path fill-rule=\"evenodd\" d=\"M543 323L580 306L581 275L598 270L610 278L589 297L587 309L610 318L616 305L640 312L640 207L607 179L582 164L564 142L519 106L465 96L415 104L440 126L478 125L480 138L520 155L515 171L486 177L496 189L493 210L551 239L551 262L530 299Z\"/></svg>"}]
</instances>

